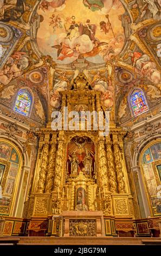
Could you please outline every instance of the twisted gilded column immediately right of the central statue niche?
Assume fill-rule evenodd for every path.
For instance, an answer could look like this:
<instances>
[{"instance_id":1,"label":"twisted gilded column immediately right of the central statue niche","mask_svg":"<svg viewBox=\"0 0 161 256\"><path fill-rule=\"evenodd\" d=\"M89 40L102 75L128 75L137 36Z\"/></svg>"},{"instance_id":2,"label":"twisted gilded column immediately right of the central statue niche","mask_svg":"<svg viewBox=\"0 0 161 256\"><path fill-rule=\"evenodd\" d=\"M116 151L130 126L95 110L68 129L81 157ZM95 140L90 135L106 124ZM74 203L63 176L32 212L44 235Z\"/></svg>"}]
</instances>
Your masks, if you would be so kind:
<instances>
[{"instance_id":1,"label":"twisted gilded column immediately right of the central statue niche","mask_svg":"<svg viewBox=\"0 0 161 256\"><path fill-rule=\"evenodd\" d=\"M105 144L104 138L99 138L99 176L100 176L100 186L101 191L108 191L108 174L107 174L107 161L106 161L106 154L105 154Z\"/></svg>"}]
</instances>

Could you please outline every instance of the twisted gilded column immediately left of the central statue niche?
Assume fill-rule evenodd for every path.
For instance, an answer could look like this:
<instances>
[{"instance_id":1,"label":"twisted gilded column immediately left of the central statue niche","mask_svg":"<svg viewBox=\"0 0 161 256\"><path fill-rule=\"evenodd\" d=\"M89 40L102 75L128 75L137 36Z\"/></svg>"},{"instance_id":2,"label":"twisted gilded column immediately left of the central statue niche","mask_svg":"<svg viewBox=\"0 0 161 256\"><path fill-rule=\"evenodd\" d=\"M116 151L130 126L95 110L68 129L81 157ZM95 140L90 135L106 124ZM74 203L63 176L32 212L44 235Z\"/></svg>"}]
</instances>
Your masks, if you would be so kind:
<instances>
[{"instance_id":1,"label":"twisted gilded column immediately left of the central statue niche","mask_svg":"<svg viewBox=\"0 0 161 256\"><path fill-rule=\"evenodd\" d=\"M61 187L61 178L63 174L62 166L63 166L63 144L64 138L63 136L59 136L57 139L57 154L56 154L56 162L55 162L55 178L54 178L54 190L60 190Z\"/></svg>"}]
</instances>

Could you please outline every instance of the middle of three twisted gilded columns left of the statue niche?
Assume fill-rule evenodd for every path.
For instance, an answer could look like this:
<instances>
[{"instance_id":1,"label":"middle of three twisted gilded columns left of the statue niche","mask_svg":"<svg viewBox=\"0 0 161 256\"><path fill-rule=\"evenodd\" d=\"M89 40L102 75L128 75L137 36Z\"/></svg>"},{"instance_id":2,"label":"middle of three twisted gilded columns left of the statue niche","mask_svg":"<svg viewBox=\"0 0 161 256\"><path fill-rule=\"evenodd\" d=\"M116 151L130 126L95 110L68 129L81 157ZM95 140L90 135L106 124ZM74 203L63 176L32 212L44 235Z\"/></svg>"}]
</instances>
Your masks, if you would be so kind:
<instances>
[{"instance_id":1,"label":"middle of three twisted gilded columns left of the statue niche","mask_svg":"<svg viewBox=\"0 0 161 256\"><path fill-rule=\"evenodd\" d=\"M53 135L52 141L51 141L51 147L49 151L49 164L48 164L48 173L47 173L47 179L46 179L45 192L51 192L53 188L55 155L56 155L56 138L55 138L55 135Z\"/></svg>"}]
</instances>

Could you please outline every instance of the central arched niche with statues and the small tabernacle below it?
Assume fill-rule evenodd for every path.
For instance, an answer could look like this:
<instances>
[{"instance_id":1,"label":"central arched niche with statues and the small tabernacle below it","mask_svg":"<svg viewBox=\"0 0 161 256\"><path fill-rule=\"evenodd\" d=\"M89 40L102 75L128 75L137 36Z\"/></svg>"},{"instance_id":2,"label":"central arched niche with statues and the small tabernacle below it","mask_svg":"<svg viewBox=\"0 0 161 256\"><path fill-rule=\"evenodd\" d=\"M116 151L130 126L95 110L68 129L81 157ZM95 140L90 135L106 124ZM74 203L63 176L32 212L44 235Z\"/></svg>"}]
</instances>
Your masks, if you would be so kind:
<instances>
[{"instance_id":1,"label":"central arched niche with statues and the small tabernacle below it","mask_svg":"<svg viewBox=\"0 0 161 256\"><path fill-rule=\"evenodd\" d=\"M94 142L86 136L75 136L67 145L66 209L95 210L96 186Z\"/></svg>"}]
</instances>

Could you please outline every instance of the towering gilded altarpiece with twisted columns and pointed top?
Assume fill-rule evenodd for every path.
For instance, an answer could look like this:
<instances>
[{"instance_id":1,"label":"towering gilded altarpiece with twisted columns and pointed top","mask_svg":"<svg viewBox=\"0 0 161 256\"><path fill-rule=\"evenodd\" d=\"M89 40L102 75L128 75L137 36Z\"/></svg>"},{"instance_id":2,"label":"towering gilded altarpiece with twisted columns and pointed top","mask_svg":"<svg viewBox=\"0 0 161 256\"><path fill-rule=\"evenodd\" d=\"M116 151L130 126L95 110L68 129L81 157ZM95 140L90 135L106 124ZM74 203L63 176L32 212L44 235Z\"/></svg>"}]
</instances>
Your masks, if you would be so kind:
<instances>
[{"instance_id":1,"label":"towering gilded altarpiece with twisted columns and pointed top","mask_svg":"<svg viewBox=\"0 0 161 256\"><path fill-rule=\"evenodd\" d=\"M89 222L95 223L94 216L101 211L111 227L114 221L122 219L132 227L133 204L123 150L126 132L111 121L110 132L102 136L102 131L95 129L94 119L91 127L88 127L86 118L83 124L79 122L83 111L105 113L100 104L100 92L91 89L84 75L78 76L71 89L61 94L61 114L66 129L53 131L51 123L48 123L45 129L37 132L39 153L31 193L34 208L30 222L53 218L53 228L49 229L54 231L50 234L63 236L63 211L77 211L79 218L82 213L81 220L76 220L76 217L69 220L72 225L85 221L87 211L91 212L91 216L94 213ZM64 109L68 111L68 123ZM70 129L70 111L78 113L76 130ZM95 224L92 224L92 229L94 227ZM107 230L106 235L115 235L115 228L110 230L111 233ZM95 230L93 234L96 233ZM70 234L73 234L72 229Z\"/></svg>"}]
</instances>

